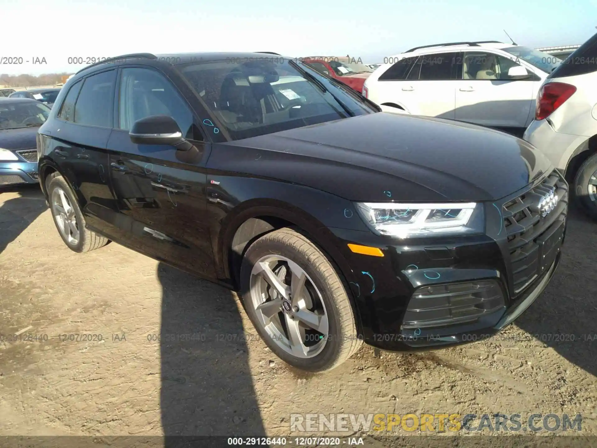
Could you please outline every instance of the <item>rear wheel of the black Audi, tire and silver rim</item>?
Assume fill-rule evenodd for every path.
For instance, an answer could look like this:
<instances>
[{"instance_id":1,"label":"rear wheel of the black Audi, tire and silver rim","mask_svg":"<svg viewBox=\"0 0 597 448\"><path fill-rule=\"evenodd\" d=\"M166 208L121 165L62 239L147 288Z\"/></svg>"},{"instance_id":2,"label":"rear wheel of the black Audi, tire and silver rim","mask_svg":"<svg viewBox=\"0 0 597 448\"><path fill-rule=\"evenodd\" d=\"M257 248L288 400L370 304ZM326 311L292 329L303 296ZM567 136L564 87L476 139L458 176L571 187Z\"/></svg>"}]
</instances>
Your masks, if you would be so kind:
<instances>
[{"instance_id":1,"label":"rear wheel of the black Audi, tire and silver rim","mask_svg":"<svg viewBox=\"0 0 597 448\"><path fill-rule=\"evenodd\" d=\"M54 225L70 250L77 253L88 252L110 243L106 237L85 228L85 218L75 195L59 173L48 177L46 189Z\"/></svg>"}]
</instances>

